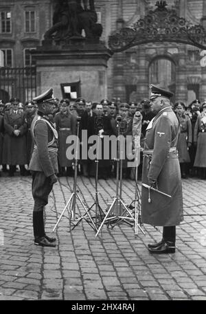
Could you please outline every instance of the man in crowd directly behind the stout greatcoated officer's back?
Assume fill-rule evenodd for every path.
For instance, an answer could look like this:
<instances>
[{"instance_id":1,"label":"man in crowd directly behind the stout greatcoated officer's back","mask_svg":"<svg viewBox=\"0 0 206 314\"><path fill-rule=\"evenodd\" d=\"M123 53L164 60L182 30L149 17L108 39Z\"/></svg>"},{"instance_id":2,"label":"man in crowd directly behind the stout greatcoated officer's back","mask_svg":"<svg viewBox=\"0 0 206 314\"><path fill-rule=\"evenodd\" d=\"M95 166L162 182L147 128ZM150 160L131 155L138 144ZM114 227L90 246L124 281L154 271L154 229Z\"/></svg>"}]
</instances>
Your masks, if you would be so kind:
<instances>
[{"instance_id":1,"label":"man in crowd directly behind the stout greatcoated officer's back","mask_svg":"<svg viewBox=\"0 0 206 314\"><path fill-rule=\"evenodd\" d=\"M178 150L179 163L181 166L181 177L187 179L190 165L189 148L192 146L192 124L190 117L185 115L186 107L183 102L176 102L174 108L180 122L180 133L176 148Z\"/></svg>"}]
</instances>

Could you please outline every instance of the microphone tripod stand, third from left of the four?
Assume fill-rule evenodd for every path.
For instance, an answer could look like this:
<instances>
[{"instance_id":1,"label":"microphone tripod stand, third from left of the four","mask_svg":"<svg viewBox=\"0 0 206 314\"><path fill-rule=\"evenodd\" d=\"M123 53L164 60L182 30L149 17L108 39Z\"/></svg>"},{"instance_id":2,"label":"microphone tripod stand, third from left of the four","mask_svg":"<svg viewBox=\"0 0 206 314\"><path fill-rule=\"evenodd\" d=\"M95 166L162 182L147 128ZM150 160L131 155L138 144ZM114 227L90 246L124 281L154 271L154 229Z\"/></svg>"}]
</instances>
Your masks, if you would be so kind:
<instances>
[{"instance_id":1,"label":"microphone tripod stand, third from left of the four","mask_svg":"<svg viewBox=\"0 0 206 314\"><path fill-rule=\"evenodd\" d=\"M113 223L116 221L119 221L119 218L121 218L121 221L125 221L126 223L129 223L129 221L132 219L134 220L133 215L130 213L124 202L122 201L122 198L119 197L119 161L122 157L122 154L120 155L120 122L122 120L122 117L117 117L117 129L118 129L118 140L117 140L117 176L116 176L116 194L115 198L113 199L113 203L111 204L110 208L108 208L108 211L106 213L106 216L104 217L104 220L102 221L98 232L95 234L95 236L98 236L100 230L102 229L104 223ZM121 164L122 165L122 164ZM121 169L120 169L121 170ZM121 177L121 171L120 171L120 177ZM128 216L122 216L122 207L124 208L125 212L128 213ZM111 216L109 216L111 215ZM130 223L129 223L130 224Z\"/></svg>"}]
</instances>

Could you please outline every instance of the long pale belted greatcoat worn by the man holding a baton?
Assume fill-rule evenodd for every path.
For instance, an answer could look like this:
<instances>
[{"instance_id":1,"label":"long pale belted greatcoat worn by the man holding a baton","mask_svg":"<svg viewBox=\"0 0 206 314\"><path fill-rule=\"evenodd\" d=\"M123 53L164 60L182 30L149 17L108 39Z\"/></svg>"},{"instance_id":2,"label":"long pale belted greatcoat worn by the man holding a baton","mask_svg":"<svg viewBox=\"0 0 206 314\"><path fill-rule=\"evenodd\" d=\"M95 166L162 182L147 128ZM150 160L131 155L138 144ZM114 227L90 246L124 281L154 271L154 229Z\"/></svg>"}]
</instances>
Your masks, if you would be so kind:
<instances>
[{"instance_id":1,"label":"long pale belted greatcoat worn by the man holding a baton","mask_svg":"<svg viewBox=\"0 0 206 314\"><path fill-rule=\"evenodd\" d=\"M155 226L179 225L183 220L181 172L176 153L179 121L172 108L165 107L153 118L146 131L142 183L157 182L158 189L172 197L142 186L143 223ZM151 200L149 202L148 200Z\"/></svg>"}]
</instances>

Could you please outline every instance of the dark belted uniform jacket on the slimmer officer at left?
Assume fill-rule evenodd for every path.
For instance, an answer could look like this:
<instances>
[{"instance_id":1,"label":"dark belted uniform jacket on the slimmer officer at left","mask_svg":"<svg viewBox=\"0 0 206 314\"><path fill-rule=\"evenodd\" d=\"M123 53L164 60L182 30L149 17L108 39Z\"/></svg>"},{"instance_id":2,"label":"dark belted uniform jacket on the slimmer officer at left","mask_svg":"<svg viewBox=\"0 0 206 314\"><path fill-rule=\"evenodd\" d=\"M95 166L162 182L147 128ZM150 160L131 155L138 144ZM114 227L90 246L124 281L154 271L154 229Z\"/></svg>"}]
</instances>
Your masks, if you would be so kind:
<instances>
[{"instance_id":1,"label":"dark belted uniform jacket on the slimmer officer at left","mask_svg":"<svg viewBox=\"0 0 206 314\"><path fill-rule=\"evenodd\" d=\"M36 115L31 125L34 150L29 169L41 171L46 177L58 173L58 133L47 117Z\"/></svg>"}]
</instances>

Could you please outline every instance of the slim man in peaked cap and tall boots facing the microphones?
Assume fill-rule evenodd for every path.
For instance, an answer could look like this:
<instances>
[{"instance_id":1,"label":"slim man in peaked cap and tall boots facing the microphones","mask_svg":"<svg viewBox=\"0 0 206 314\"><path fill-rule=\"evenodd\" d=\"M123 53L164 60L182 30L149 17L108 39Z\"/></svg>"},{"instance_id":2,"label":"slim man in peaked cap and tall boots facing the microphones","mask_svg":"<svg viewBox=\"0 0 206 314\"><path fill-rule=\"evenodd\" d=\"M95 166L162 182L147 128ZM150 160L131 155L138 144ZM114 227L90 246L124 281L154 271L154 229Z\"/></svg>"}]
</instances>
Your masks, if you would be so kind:
<instances>
[{"instance_id":1,"label":"slim man in peaked cap and tall boots facing the microphones","mask_svg":"<svg viewBox=\"0 0 206 314\"><path fill-rule=\"evenodd\" d=\"M32 196L34 198L33 229L34 244L55 247L56 238L45 234L43 210L48 203L49 193L57 182L58 173L58 133L49 121L53 110L53 89L34 98L38 105L37 115L32 120L31 133L34 150L29 170L32 172Z\"/></svg>"}]
</instances>

